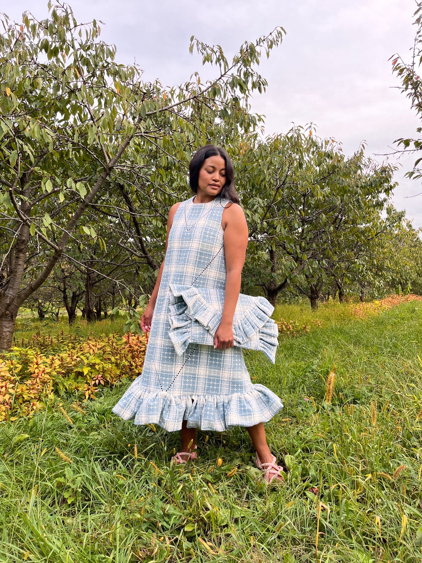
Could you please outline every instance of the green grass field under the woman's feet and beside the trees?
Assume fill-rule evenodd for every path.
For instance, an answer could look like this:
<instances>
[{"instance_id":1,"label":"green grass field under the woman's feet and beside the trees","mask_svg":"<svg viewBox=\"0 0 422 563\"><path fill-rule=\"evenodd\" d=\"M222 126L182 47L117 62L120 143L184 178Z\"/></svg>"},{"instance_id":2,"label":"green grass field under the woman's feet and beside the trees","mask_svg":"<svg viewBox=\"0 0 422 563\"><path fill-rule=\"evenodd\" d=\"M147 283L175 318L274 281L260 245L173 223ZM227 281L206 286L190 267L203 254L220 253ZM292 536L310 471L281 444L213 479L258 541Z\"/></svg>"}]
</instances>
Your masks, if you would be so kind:
<instances>
[{"instance_id":1,"label":"green grass field under the woman's feet and beside the trees","mask_svg":"<svg viewBox=\"0 0 422 563\"><path fill-rule=\"evenodd\" d=\"M1 423L0 561L422 560L422 303L363 320L347 311L281 306L279 318L311 331L282 336L274 366L245 354L253 382L285 405L266 425L289 468L280 486L259 483L241 428L199 432L199 460L172 467L177 433L111 414L124 387L84 413L64 401L72 425L57 406ZM65 330L48 324L38 329ZM35 325L20 321L17 341ZM120 325L74 330L99 336Z\"/></svg>"}]
</instances>

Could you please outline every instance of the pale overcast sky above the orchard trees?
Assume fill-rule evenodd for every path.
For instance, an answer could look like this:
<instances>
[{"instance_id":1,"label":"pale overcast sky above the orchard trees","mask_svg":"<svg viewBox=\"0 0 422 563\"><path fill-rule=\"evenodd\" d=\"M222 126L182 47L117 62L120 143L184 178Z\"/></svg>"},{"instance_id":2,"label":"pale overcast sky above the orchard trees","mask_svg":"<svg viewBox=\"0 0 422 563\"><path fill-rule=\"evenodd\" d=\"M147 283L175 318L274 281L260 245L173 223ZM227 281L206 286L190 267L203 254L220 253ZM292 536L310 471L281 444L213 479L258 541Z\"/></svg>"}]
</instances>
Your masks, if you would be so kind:
<instances>
[{"instance_id":1,"label":"pale overcast sky above the orchard trees","mask_svg":"<svg viewBox=\"0 0 422 563\"><path fill-rule=\"evenodd\" d=\"M136 62L145 79L164 85L186 81L198 70L199 56L188 53L191 35L219 43L231 56L245 39L253 40L281 25L287 32L260 72L267 92L258 93L252 109L266 115L266 133L288 131L291 123L313 122L322 137L342 142L346 154L367 142L367 154L390 152L398 137L415 136L418 120L389 57L410 57L415 35L414 0L73 0L78 21L104 21L101 39L117 46L118 62ZM0 10L21 20L24 10L47 16L47 1L15 0ZM390 157L391 158L391 157ZM420 181L404 172L415 157L401 160L393 197L414 225L422 226ZM392 157L392 162L396 162Z\"/></svg>"}]
</instances>

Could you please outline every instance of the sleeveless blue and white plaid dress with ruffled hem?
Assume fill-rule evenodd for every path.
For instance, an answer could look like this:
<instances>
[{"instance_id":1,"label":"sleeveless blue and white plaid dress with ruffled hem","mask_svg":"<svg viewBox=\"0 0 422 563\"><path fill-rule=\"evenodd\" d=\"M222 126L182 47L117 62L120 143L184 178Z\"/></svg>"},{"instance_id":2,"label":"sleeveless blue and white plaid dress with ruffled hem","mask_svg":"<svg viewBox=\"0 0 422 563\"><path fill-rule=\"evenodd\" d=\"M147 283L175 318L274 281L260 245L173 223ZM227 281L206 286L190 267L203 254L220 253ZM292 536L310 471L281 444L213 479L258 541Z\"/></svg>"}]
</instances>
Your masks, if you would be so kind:
<instances>
[{"instance_id":1,"label":"sleeveless blue and white plaid dress with ruffled hem","mask_svg":"<svg viewBox=\"0 0 422 563\"><path fill-rule=\"evenodd\" d=\"M142 374L113 412L137 425L154 423L168 431L182 421L201 430L268 422L282 408L267 387L250 381L239 347L217 350L189 344L177 355L169 338L169 284L225 289L222 214L227 199L182 202L173 218Z\"/></svg>"}]
</instances>

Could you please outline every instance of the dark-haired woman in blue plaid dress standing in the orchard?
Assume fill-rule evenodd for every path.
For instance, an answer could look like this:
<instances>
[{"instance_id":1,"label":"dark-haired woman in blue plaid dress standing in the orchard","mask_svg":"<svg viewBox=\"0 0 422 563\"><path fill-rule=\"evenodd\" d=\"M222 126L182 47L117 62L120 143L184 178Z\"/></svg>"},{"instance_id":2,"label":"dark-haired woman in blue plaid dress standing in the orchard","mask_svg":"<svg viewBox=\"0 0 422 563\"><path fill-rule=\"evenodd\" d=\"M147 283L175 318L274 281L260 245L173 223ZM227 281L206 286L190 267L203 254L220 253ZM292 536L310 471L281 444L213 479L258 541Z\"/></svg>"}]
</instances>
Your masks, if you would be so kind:
<instances>
[{"instance_id":1,"label":"dark-haired woman in blue plaid dress standing in the orchard","mask_svg":"<svg viewBox=\"0 0 422 563\"><path fill-rule=\"evenodd\" d=\"M180 430L182 451L174 463L196 458L196 428L225 431L245 426L267 482L282 480L268 448L264 422L282 404L263 385L252 385L241 348L234 346L233 319L248 227L234 187L234 168L225 150L199 149L189 165L193 198L176 203L167 223L165 259L141 318L150 332L141 376L113 412L135 424L156 423ZM169 338L170 284L225 290L214 346L189 344L177 355Z\"/></svg>"}]
</instances>

